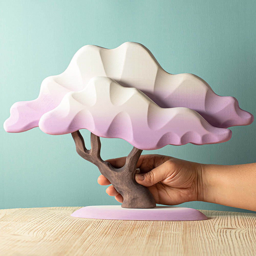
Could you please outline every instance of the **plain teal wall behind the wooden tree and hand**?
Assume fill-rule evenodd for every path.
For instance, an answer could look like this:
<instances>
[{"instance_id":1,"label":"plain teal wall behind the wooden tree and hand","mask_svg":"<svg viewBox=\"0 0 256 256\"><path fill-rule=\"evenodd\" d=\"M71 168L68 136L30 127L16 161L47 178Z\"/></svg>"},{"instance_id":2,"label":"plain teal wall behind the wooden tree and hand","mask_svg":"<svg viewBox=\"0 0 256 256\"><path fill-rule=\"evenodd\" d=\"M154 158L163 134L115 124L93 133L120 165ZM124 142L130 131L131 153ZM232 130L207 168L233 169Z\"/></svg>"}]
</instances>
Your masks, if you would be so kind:
<instances>
[{"instance_id":1,"label":"plain teal wall behind the wooden tree and hand","mask_svg":"<svg viewBox=\"0 0 256 256\"><path fill-rule=\"evenodd\" d=\"M255 1L1 1L0 123L16 101L37 98L41 81L63 72L83 45L115 48L135 41L170 73L194 73L219 95L255 113ZM201 163L255 162L255 126L231 127L222 144L166 146L143 152ZM119 204L97 183L96 166L76 153L70 134L35 128L1 133L0 208ZM82 131L89 147L88 131ZM132 146L102 138L102 158ZM232 179L232 177L230 177ZM246 189L246 188L245 188ZM205 202L186 207L246 211Z\"/></svg>"}]
</instances>

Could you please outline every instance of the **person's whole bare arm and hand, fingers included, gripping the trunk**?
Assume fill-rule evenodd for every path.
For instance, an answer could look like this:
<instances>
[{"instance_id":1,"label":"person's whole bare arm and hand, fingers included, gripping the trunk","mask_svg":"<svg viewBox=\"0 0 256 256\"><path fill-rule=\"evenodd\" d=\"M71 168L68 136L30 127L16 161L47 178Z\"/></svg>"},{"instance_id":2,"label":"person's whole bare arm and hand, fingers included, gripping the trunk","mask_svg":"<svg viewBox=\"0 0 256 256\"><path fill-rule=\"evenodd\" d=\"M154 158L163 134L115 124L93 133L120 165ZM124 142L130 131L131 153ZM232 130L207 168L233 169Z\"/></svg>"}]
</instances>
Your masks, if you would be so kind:
<instances>
[{"instance_id":1,"label":"person's whole bare arm and hand, fingers included, gripping the trunk","mask_svg":"<svg viewBox=\"0 0 256 256\"><path fill-rule=\"evenodd\" d=\"M125 157L110 159L121 167ZM256 211L256 163L241 165L199 164L162 155L141 155L135 175L146 186L157 204L177 205L188 201L205 201ZM101 185L110 185L103 175ZM106 192L119 202L122 196L113 186Z\"/></svg>"}]
</instances>

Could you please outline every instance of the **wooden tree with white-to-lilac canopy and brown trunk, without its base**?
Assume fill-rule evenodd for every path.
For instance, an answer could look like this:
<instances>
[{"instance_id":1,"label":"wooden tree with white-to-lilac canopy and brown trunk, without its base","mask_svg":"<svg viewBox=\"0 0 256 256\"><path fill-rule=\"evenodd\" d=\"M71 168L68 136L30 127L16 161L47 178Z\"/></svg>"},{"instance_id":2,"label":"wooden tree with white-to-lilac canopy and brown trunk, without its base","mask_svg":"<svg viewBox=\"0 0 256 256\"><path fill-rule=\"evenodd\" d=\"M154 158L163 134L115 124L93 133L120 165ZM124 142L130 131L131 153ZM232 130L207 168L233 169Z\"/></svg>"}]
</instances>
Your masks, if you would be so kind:
<instances>
[{"instance_id":1,"label":"wooden tree with white-to-lilac canopy and brown trunk, without its base","mask_svg":"<svg viewBox=\"0 0 256 256\"><path fill-rule=\"evenodd\" d=\"M123 208L153 208L152 194L134 179L142 150L226 142L232 135L226 128L252 122L235 98L215 94L194 74L167 73L146 47L126 42L115 49L82 47L63 73L43 80L37 99L11 107L4 129L71 133L78 154L123 196ZM79 129L91 131L90 150ZM122 168L101 159L100 137L133 145Z\"/></svg>"}]
</instances>

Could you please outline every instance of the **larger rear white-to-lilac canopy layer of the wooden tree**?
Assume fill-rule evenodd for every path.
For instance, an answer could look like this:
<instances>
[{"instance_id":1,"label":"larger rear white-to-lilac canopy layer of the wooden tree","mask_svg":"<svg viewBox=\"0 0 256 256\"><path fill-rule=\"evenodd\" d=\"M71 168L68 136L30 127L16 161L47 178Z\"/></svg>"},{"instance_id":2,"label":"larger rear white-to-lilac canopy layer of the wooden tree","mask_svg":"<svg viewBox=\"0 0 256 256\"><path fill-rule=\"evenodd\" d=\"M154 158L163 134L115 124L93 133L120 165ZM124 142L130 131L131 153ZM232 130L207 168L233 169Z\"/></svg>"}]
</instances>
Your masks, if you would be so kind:
<instances>
[{"instance_id":1,"label":"larger rear white-to-lilac canopy layer of the wooden tree","mask_svg":"<svg viewBox=\"0 0 256 256\"><path fill-rule=\"evenodd\" d=\"M115 49L93 45L79 49L63 73L42 81L37 99L13 104L5 131L24 132L37 127L41 116L56 108L68 92L84 89L96 76L136 87L162 108L193 109L215 127L253 122L253 115L239 108L235 98L215 94L194 74L167 73L145 46L126 42Z\"/></svg>"}]
</instances>

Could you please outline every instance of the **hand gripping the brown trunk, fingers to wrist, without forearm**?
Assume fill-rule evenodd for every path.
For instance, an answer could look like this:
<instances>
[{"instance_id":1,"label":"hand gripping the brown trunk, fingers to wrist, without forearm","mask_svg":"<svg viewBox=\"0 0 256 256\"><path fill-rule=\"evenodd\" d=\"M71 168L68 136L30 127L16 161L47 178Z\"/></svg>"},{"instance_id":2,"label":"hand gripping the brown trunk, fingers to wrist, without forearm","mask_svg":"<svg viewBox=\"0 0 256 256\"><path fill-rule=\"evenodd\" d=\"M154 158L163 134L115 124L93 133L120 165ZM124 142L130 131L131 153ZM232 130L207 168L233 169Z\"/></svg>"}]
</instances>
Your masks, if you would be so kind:
<instances>
[{"instance_id":1,"label":"hand gripping the brown trunk, fingers to wrist, without forearm","mask_svg":"<svg viewBox=\"0 0 256 256\"><path fill-rule=\"evenodd\" d=\"M106 160L115 168L125 164L126 157ZM163 155L141 155L137 163L135 180L147 187L153 194L157 204L177 205L188 201L203 201L202 166ZM100 185L110 185L109 180L100 175ZM123 197L111 185L106 189L109 196L118 202Z\"/></svg>"}]
</instances>

